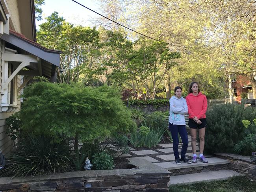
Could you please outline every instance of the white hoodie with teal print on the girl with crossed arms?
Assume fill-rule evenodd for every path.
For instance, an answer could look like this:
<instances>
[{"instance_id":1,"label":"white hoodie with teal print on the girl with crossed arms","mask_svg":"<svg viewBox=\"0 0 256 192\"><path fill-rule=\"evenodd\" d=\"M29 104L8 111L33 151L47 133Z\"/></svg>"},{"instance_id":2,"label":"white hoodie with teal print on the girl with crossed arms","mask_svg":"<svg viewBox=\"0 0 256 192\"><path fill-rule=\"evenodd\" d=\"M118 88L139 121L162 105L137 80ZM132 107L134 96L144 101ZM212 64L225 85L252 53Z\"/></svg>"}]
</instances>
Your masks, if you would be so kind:
<instances>
[{"instance_id":1,"label":"white hoodie with teal print on the girl with crossed arms","mask_svg":"<svg viewBox=\"0 0 256 192\"><path fill-rule=\"evenodd\" d=\"M176 96L172 96L170 99L169 123L174 125L186 125L184 114L187 114L186 99L183 97L179 99Z\"/></svg>"}]
</instances>

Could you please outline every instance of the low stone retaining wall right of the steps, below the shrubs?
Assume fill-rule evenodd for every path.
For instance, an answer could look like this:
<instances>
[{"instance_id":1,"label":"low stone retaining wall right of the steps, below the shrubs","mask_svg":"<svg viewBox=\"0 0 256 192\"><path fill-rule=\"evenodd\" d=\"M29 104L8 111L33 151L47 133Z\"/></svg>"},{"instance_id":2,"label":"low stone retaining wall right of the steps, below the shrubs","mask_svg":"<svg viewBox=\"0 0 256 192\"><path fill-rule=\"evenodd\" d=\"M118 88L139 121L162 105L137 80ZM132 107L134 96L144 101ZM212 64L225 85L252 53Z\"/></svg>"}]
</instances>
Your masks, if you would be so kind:
<instances>
[{"instance_id":1,"label":"low stone retaining wall right of the steps, below the shrubs","mask_svg":"<svg viewBox=\"0 0 256 192\"><path fill-rule=\"evenodd\" d=\"M229 153L215 153L217 157L230 161L229 169L235 170L247 177L256 180L256 164L250 160L250 156L242 156Z\"/></svg>"}]
</instances>

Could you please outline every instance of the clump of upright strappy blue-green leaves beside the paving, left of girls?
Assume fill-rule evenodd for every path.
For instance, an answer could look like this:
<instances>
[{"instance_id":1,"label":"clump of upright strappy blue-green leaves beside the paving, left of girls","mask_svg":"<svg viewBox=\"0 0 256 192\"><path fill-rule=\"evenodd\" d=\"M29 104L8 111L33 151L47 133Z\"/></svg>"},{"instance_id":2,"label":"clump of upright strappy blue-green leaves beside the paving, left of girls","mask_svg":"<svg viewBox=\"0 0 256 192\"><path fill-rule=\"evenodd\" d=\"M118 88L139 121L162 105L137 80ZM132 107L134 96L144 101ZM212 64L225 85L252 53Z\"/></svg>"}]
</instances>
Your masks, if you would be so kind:
<instances>
[{"instance_id":1,"label":"clump of upright strappy blue-green leaves beside the paving, left of girls","mask_svg":"<svg viewBox=\"0 0 256 192\"><path fill-rule=\"evenodd\" d=\"M150 132L147 135L141 135L138 131L135 131L131 133L129 141L136 148L156 147L163 137L164 132L165 130L163 129L150 129Z\"/></svg>"}]
</instances>

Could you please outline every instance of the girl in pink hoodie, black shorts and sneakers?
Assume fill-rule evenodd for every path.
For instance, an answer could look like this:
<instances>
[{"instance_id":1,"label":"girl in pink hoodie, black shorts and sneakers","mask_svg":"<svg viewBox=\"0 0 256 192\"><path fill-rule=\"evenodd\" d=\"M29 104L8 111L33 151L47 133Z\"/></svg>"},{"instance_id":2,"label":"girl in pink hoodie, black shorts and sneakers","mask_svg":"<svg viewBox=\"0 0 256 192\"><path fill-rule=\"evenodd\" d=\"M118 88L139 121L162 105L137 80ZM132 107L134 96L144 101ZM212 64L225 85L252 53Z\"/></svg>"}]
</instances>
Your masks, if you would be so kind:
<instances>
[{"instance_id":1,"label":"girl in pink hoodie, black shorts and sneakers","mask_svg":"<svg viewBox=\"0 0 256 192\"><path fill-rule=\"evenodd\" d=\"M197 140L197 129L199 129L200 138L200 154L199 161L207 163L208 161L203 155L204 152L204 135L206 122L206 110L207 110L207 99L206 96L200 92L197 82L192 82L189 85L189 92L186 96L188 114L189 114L189 128L191 133L191 144L193 150L193 163L197 163L196 154L196 140Z\"/></svg>"}]
</instances>

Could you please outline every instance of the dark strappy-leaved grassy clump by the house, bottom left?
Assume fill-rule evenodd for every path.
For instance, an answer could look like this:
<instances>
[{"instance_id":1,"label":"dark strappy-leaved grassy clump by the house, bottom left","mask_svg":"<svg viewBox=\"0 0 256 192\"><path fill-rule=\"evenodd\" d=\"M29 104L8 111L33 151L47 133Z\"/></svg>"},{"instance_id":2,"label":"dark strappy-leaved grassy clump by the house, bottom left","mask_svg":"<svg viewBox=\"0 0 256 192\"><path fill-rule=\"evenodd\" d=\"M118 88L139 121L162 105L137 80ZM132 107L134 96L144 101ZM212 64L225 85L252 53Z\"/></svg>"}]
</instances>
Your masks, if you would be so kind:
<instances>
[{"instance_id":1,"label":"dark strappy-leaved grassy clump by the house, bottom left","mask_svg":"<svg viewBox=\"0 0 256 192\"><path fill-rule=\"evenodd\" d=\"M59 137L58 142L47 135L27 133L19 138L17 151L11 153L2 176L47 175L70 170L69 139Z\"/></svg>"}]
</instances>

